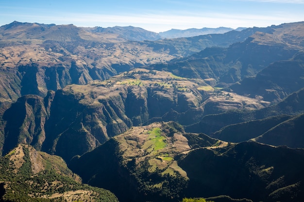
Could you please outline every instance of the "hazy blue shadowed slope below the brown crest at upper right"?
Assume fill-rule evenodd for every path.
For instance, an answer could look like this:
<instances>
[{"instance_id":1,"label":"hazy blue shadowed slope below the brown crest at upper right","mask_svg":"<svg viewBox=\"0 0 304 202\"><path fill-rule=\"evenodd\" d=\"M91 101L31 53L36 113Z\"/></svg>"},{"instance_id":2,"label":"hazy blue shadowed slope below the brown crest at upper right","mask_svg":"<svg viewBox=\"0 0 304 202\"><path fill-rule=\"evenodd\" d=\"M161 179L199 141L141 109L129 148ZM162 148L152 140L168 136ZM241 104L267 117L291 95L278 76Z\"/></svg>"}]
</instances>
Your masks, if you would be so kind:
<instances>
[{"instance_id":1,"label":"hazy blue shadowed slope below the brown crest at upper right","mask_svg":"<svg viewBox=\"0 0 304 202\"><path fill-rule=\"evenodd\" d=\"M279 45L261 45L253 38L228 48L206 48L189 57L168 64L153 64L149 68L166 70L187 78L213 78L219 87L228 87L246 77L255 76L272 62L287 60L299 49Z\"/></svg>"}]
</instances>

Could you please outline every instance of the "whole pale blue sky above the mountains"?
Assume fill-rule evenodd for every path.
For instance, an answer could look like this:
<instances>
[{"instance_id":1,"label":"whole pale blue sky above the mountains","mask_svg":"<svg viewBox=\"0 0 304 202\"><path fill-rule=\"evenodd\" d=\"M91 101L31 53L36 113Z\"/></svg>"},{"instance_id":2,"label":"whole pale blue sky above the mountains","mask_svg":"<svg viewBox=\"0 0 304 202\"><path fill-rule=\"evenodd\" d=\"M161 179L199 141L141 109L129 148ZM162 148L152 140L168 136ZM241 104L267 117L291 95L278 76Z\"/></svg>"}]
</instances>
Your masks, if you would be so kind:
<instances>
[{"instance_id":1,"label":"whole pale blue sky above the mountains","mask_svg":"<svg viewBox=\"0 0 304 202\"><path fill-rule=\"evenodd\" d=\"M304 21L304 0L0 0L0 26L14 20L149 31L267 27Z\"/></svg>"}]
</instances>

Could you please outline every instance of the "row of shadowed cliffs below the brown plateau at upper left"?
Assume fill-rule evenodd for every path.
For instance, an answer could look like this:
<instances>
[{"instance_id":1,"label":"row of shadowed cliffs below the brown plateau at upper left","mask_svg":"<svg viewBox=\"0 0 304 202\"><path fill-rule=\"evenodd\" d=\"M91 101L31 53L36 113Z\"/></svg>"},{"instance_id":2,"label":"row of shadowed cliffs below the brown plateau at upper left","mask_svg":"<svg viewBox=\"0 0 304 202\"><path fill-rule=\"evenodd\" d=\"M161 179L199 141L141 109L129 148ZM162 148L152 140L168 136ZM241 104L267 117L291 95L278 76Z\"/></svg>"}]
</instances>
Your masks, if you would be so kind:
<instances>
[{"instance_id":1,"label":"row of shadowed cliffs below the brown plateau at upper left","mask_svg":"<svg viewBox=\"0 0 304 202\"><path fill-rule=\"evenodd\" d=\"M40 62L18 66L20 75L20 89L16 93L21 95L36 94L45 96L48 90L59 90L68 84L84 85L94 79L106 79L116 75L113 68L101 69L96 66L86 65L85 61L76 62L69 60L43 64ZM14 101L14 100L13 100Z\"/></svg>"}]
</instances>

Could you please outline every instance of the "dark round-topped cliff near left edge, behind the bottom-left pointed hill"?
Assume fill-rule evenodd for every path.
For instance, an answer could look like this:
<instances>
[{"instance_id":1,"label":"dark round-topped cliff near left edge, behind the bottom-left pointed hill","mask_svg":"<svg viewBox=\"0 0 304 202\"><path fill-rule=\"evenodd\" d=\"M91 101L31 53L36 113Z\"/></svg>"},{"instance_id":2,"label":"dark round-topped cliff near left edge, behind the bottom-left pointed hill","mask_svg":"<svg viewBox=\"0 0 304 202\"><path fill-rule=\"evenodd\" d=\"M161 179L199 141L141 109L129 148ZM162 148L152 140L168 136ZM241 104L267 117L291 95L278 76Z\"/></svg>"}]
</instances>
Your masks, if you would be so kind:
<instances>
[{"instance_id":1,"label":"dark round-topped cliff near left edge, behind the bottom-left pointed hill","mask_svg":"<svg viewBox=\"0 0 304 202\"><path fill-rule=\"evenodd\" d=\"M3 153L6 154L18 143L31 144L40 150L46 138L44 125L47 119L48 109L42 97L37 95L20 97L3 114L3 120L6 122Z\"/></svg>"}]
</instances>

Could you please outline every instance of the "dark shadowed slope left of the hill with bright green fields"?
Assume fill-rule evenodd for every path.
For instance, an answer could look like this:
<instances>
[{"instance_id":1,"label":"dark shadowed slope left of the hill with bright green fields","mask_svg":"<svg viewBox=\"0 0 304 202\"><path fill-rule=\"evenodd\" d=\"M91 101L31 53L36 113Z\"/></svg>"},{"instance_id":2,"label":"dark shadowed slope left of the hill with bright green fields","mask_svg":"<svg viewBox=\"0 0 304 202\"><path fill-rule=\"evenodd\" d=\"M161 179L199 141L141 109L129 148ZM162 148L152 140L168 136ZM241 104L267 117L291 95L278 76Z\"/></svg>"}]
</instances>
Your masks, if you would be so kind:
<instances>
[{"instance_id":1,"label":"dark shadowed slope left of the hill with bright green fields","mask_svg":"<svg viewBox=\"0 0 304 202\"><path fill-rule=\"evenodd\" d=\"M91 186L102 184L112 191L117 190L118 198L135 201L134 192L137 188L135 179L120 166L120 158L117 141L110 139L95 150L84 154L81 159L79 156L74 157L69 167L82 175L84 183ZM92 162L95 162L94 166ZM84 167L84 165L92 166Z\"/></svg>"}]
</instances>

